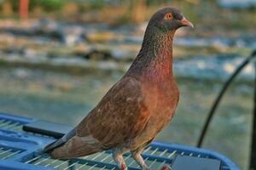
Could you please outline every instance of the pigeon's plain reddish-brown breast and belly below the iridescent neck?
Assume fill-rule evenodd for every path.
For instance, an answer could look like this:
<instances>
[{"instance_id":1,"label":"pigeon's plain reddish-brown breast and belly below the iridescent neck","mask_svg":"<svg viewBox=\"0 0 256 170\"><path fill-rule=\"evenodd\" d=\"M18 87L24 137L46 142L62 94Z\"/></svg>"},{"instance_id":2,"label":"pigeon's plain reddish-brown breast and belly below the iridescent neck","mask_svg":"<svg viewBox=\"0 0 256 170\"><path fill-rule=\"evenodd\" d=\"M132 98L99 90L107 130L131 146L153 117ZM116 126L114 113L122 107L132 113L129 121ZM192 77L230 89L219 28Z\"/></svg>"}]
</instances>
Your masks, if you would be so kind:
<instances>
[{"instance_id":1,"label":"pigeon's plain reddish-brown breast and belly below the iridescent neck","mask_svg":"<svg viewBox=\"0 0 256 170\"><path fill-rule=\"evenodd\" d=\"M148 143L160 133L160 130L172 119L179 99L176 82L168 82L164 86L155 84L143 86L143 94L145 105L150 111L150 118L143 131L132 139L133 149Z\"/></svg>"}]
</instances>

